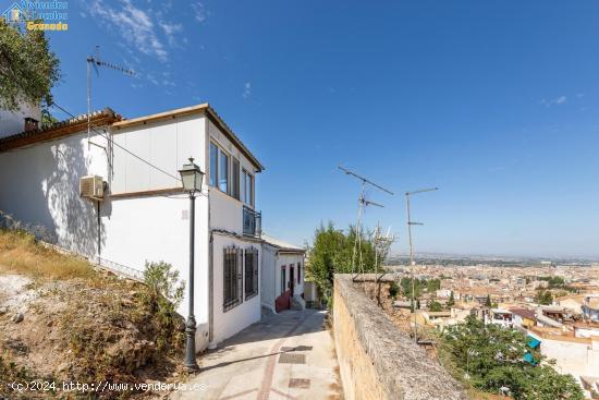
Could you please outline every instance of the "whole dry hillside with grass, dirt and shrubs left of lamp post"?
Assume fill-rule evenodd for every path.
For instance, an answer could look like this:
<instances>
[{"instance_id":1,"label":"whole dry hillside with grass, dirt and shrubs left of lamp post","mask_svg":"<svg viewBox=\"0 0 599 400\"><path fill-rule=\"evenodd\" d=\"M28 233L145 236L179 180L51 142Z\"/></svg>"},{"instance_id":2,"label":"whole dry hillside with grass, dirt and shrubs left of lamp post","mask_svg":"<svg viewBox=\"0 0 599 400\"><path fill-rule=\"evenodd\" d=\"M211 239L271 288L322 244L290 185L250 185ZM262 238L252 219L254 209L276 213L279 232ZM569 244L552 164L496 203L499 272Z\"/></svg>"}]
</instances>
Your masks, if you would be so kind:
<instances>
[{"instance_id":1,"label":"whole dry hillside with grass, dirt and shrubs left of lamp post","mask_svg":"<svg viewBox=\"0 0 599 400\"><path fill-rule=\"evenodd\" d=\"M0 398L159 395L106 386L83 393L63 390L63 383L173 380L183 373L184 325L168 304L151 286L95 270L25 232L0 230ZM7 386L33 379L48 384L41 392Z\"/></svg>"}]
</instances>

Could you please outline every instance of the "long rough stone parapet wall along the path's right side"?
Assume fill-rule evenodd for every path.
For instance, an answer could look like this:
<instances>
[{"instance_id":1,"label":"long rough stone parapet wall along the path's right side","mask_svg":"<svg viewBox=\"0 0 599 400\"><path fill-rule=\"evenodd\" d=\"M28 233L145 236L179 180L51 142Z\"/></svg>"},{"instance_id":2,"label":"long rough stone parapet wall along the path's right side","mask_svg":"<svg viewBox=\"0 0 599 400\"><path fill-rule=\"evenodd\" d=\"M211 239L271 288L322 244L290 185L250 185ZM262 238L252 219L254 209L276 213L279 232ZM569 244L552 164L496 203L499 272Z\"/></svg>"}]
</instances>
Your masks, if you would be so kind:
<instances>
[{"instance_id":1,"label":"long rough stone parapet wall along the path's right side","mask_svg":"<svg viewBox=\"0 0 599 400\"><path fill-rule=\"evenodd\" d=\"M468 398L346 274L334 277L333 329L346 400Z\"/></svg>"}]
</instances>

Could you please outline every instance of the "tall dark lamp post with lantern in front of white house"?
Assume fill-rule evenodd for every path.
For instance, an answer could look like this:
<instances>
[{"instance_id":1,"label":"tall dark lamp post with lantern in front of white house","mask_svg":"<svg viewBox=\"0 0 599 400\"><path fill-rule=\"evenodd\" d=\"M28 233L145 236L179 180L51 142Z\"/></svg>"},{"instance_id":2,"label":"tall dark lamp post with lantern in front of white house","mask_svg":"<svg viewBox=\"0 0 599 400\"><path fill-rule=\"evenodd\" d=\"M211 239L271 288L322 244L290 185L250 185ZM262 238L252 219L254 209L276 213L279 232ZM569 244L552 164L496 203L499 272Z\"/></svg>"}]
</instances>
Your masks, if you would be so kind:
<instances>
[{"instance_id":1,"label":"tall dark lamp post with lantern in front of white house","mask_svg":"<svg viewBox=\"0 0 599 400\"><path fill-rule=\"evenodd\" d=\"M196 319L194 316L194 242L195 242L195 199L197 193L201 192L204 172L194 163L190 157L190 163L185 163L181 170L181 182L183 191L190 195L190 312L185 324L185 366L190 369L198 369L196 362Z\"/></svg>"}]
</instances>

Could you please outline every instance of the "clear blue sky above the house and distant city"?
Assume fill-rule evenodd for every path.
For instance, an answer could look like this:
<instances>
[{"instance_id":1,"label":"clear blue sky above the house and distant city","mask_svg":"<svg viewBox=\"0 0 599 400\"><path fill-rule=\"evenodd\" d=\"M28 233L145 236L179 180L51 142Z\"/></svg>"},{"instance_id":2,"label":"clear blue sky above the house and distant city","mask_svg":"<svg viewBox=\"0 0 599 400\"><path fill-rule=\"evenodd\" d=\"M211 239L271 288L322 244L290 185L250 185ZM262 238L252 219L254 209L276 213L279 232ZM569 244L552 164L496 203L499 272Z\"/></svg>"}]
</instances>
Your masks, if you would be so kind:
<instances>
[{"instance_id":1,"label":"clear blue sky above the house and distant city","mask_svg":"<svg viewBox=\"0 0 599 400\"><path fill-rule=\"evenodd\" d=\"M357 211L355 169L406 250L599 256L597 1L108 1L69 3L59 105L125 117L209 101L267 170L257 204L272 235L303 243ZM57 112L58 117L64 117Z\"/></svg>"}]
</instances>

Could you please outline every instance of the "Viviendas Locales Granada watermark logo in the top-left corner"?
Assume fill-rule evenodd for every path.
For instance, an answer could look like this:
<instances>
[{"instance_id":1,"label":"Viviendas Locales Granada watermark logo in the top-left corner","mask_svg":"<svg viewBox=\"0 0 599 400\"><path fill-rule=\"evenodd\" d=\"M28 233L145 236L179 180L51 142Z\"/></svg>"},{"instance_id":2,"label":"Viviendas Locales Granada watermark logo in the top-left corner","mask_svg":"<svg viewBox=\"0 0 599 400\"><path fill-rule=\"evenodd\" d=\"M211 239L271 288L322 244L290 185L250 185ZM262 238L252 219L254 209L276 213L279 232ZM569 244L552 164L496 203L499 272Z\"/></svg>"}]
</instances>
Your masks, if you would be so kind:
<instances>
[{"instance_id":1,"label":"Viviendas Locales Granada watermark logo in the top-left corner","mask_svg":"<svg viewBox=\"0 0 599 400\"><path fill-rule=\"evenodd\" d=\"M13 2L0 17L27 31L69 31L69 2L21 0Z\"/></svg>"}]
</instances>

